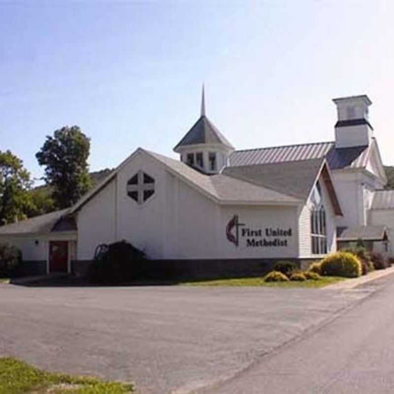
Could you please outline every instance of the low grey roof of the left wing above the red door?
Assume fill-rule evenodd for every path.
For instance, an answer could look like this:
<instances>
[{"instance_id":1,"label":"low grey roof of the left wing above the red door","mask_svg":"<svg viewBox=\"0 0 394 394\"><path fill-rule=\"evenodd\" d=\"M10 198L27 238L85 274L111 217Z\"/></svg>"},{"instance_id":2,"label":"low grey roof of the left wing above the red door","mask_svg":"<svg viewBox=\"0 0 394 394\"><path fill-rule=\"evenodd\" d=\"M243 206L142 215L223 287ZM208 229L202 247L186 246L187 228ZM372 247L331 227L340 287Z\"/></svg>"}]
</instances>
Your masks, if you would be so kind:
<instances>
[{"instance_id":1,"label":"low grey roof of the left wing above the red door","mask_svg":"<svg viewBox=\"0 0 394 394\"><path fill-rule=\"evenodd\" d=\"M21 220L18 223L0 227L0 235L48 233L51 231L74 231L75 222L71 218L63 220L69 209L63 209L36 216L31 219Z\"/></svg>"}]
</instances>

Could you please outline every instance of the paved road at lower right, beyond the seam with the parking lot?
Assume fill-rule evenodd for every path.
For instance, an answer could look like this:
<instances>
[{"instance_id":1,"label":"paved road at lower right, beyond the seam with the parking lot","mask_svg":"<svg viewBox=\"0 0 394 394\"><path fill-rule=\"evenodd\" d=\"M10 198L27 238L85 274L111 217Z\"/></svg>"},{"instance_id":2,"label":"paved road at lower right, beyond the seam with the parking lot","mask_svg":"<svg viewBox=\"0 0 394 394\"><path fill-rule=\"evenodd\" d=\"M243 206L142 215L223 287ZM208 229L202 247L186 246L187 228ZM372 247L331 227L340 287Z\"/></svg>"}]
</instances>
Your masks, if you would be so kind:
<instances>
[{"instance_id":1,"label":"paved road at lower right, beyond the seam with the parking lot","mask_svg":"<svg viewBox=\"0 0 394 394\"><path fill-rule=\"evenodd\" d=\"M394 393L394 278L331 324L200 393Z\"/></svg>"}]
</instances>

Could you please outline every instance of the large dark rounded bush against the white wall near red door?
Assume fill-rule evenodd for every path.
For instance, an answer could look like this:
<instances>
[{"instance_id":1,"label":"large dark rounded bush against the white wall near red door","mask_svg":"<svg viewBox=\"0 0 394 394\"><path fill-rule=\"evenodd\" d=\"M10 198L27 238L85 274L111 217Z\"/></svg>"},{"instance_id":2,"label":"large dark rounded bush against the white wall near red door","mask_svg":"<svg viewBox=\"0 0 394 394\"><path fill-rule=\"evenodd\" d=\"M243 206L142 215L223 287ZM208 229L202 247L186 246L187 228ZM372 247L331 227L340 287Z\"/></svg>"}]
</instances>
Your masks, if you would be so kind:
<instances>
[{"instance_id":1,"label":"large dark rounded bush against the white wall near red door","mask_svg":"<svg viewBox=\"0 0 394 394\"><path fill-rule=\"evenodd\" d=\"M135 279L145 260L144 253L126 241L99 245L98 249L88 270L90 283L116 284Z\"/></svg>"}]
</instances>

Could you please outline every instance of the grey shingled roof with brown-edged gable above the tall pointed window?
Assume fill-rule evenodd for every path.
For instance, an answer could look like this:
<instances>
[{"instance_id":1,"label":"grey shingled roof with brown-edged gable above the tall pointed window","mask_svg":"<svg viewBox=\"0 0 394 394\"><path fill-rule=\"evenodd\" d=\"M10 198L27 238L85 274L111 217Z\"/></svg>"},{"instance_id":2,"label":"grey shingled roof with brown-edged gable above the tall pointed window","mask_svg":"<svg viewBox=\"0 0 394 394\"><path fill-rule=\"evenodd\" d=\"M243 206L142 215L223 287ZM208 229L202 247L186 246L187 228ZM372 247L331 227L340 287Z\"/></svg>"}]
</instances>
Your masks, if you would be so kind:
<instances>
[{"instance_id":1,"label":"grey shingled roof with brown-edged gable above the tall pointed window","mask_svg":"<svg viewBox=\"0 0 394 394\"><path fill-rule=\"evenodd\" d=\"M325 158L226 167L223 174L268 187L304 201L309 198L313 186L322 175L334 211L337 215L342 215Z\"/></svg>"}]
</instances>

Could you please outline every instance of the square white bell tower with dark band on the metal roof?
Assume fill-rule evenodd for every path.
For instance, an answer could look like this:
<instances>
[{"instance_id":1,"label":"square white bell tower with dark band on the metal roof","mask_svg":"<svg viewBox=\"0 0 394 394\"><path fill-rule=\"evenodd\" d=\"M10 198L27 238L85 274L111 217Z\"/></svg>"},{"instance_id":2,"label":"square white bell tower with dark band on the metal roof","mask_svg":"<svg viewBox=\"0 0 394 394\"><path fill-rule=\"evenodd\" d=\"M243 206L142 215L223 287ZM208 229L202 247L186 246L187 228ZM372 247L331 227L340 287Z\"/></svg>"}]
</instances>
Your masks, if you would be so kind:
<instances>
[{"instance_id":1,"label":"square white bell tower with dark band on the metal roof","mask_svg":"<svg viewBox=\"0 0 394 394\"><path fill-rule=\"evenodd\" d=\"M335 124L335 147L367 146L373 135L368 120L368 107L372 101L366 95L333 99L338 121Z\"/></svg>"}]
</instances>

